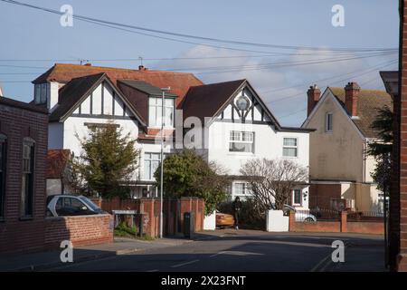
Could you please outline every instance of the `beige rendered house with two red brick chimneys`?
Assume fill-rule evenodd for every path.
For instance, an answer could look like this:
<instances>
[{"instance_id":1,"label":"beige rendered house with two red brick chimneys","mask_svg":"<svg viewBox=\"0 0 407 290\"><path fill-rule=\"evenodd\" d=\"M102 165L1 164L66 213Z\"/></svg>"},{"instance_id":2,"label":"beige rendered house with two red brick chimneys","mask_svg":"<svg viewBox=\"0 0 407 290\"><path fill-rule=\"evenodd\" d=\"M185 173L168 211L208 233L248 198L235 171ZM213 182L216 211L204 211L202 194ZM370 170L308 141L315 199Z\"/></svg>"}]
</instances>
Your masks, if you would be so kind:
<instances>
[{"instance_id":1,"label":"beige rendered house with two red brick chimneys","mask_svg":"<svg viewBox=\"0 0 407 290\"><path fill-rule=\"evenodd\" d=\"M316 85L308 90L310 207L352 208L383 213L383 192L371 176L376 161L366 153L378 140L371 127L378 109L393 108L387 92L364 90L356 82L345 88Z\"/></svg>"}]
</instances>

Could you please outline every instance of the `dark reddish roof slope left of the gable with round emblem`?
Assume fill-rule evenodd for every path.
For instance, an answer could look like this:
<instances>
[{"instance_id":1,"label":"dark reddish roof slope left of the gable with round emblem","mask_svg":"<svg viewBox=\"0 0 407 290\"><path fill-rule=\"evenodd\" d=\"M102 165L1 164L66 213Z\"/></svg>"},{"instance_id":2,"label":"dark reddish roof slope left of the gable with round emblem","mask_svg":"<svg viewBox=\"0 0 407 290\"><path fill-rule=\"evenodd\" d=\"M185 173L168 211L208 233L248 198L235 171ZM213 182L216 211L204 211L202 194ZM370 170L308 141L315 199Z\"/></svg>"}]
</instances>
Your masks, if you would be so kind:
<instances>
[{"instance_id":1,"label":"dark reddish roof slope left of the gable with round emblem","mask_svg":"<svg viewBox=\"0 0 407 290\"><path fill-rule=\"evenodd\" d=\"M216 111L218 111L235 92L239 91L245 82L246 80L238 80L191 87L182 104L184 119L194 116L204 121L204 117L213 117Z\"/></svg>"}]
</instances>

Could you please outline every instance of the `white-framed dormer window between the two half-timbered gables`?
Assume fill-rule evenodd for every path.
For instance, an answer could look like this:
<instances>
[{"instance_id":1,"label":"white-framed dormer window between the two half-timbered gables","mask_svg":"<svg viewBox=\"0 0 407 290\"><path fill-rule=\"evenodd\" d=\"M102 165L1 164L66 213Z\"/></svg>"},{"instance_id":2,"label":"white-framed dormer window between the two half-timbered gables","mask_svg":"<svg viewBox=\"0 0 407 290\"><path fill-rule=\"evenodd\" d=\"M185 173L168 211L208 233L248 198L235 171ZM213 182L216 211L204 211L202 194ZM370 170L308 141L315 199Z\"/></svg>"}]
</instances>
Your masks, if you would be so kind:
<instances>
[{"instance_id":1,"label":"white-framed dormer window between the two half-timbered gables","mask_svg":"<svg viewBox=\"0 0 407 290\"><path fill-rule=\"evenodd\" d=\"M162 98L150 97L148 99L148 126L161 127ZM166 99L164 102L165 127L174 127L174 99Z\"/></svg>"}]
</instances>

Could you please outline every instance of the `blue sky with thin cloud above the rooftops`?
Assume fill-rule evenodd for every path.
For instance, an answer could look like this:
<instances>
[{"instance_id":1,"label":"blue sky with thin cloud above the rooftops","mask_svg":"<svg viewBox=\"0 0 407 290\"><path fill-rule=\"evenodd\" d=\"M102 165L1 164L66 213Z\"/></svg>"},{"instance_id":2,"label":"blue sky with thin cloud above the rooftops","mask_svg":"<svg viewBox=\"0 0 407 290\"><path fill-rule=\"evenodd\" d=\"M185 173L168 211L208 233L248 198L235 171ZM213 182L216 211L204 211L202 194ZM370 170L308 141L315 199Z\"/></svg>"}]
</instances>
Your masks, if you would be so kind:
<instances>
[{"instance_id":1,"label":"blue sky with thin cloud above the rooftops","mask_svg":"<svg viewBox=\"0 0 407 290\"><path fill-rule=\"evenodd\" d=\"M251 43L313 46L324 49L398 46L397 0L21 1L56 10L68 4L73 7L74 14L158 30ZM331 24L333 5L344 6L344 27L334 27ZM209 43L270 53L295 54L261 56L260 53L165 41L83 23L77 19L73 20L72 27L62 27L59 18L56 14L0 2L0 83L6 96L24 102L31 101L33 85L30 81L51 67L56 60L78 63L75 60L84 59L90 60L93 65L137 68L139 56L145 59L192 57L192 60L145 60L144 64L152 69L191 69L191 72L204 82L247 78L281 123L298 125L306 117L306 92L310 84L317 83L321 88L327 85L343 87L345 82L356 81L363 88L383 89L378 70L394 70L397 67L395 63L391 63L397 59L397 54L393 53L341 62L328 61L258 69L259 65L264 63L321 62L344 56L321 55L320 51L311 52L309 55L309 51L301 50ZM196 59L213 56L218 58ZM352 57L355 58L355 55L351 55ZM108 61L128 58L135 61ZM51 61L27 61L44 59ZM386 64L390 65L384 66ZM204 69L213 66L246 69L233 72L227 72L226 69L226 72L222 73L208 73ZM322 81L317 82L318 80Z\"/></svg>"}]
</instances>

